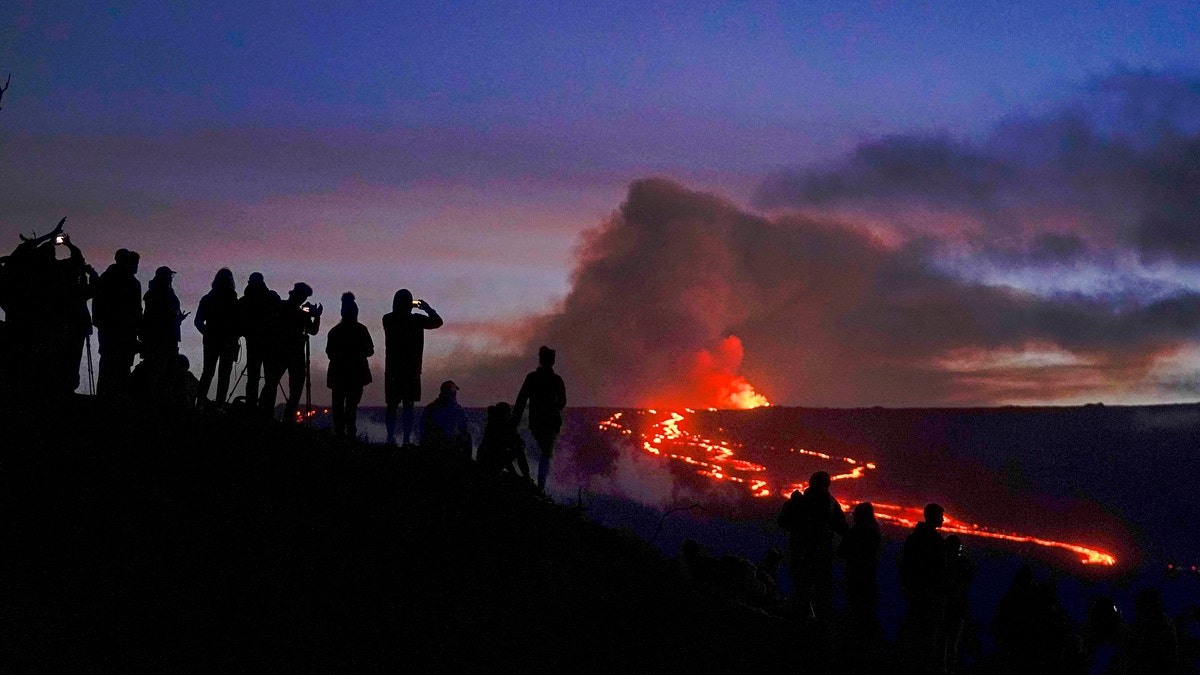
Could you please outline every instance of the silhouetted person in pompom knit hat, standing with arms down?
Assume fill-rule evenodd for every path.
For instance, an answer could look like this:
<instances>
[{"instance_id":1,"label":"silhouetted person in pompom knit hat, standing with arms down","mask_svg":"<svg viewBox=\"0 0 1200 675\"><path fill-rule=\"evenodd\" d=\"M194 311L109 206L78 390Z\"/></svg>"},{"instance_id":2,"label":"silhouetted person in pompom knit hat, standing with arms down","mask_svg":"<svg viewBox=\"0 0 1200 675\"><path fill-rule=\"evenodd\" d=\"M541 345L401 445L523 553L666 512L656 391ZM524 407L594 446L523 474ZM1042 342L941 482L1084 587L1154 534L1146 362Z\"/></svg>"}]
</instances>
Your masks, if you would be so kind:
<instances>
[{"instance_id":1,"label":"silhouetted person in pompom knit hat, standing with arms down","mask_svg":"<svg viewBox=\"0 0 1200 675\"><path fill-rule=\"evenodd\" d=\"M334 434L358 438L359 401L362 388L371 383L367 357L374 354L374 342L367 327L359 323L354 293L342 293L342 321L329 329L325 354L329 356L325 383L332 394Z\"/></svg>"}]
</instances>

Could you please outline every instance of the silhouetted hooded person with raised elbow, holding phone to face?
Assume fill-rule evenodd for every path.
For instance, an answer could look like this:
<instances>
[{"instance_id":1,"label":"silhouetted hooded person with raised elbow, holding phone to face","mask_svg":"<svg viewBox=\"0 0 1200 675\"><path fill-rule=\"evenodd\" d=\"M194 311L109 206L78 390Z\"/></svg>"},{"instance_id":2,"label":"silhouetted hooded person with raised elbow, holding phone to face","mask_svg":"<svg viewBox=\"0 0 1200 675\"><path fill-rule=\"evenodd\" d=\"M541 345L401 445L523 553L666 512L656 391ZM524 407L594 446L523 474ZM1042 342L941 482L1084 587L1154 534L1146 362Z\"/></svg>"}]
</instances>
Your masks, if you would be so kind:
<instances>
[{"instance_id":1,"label":"silhouetted hooded person with raised elbow, holding phone to face","mask_svg":"<svg viewBox=\"0 0 1200 675\"><path fill-rule=\"evenodd\" d=\"M413 307L425 312L413 313ZM384 423L388 444L396 443L396 408L403 406L404 446L413 436L413 406L421 400L421 358L425 331L442 328L442 317L425 300L413 300L407 288L391 298L391 312L383 317L384 350Z\"/></svg>"}]
</instances>

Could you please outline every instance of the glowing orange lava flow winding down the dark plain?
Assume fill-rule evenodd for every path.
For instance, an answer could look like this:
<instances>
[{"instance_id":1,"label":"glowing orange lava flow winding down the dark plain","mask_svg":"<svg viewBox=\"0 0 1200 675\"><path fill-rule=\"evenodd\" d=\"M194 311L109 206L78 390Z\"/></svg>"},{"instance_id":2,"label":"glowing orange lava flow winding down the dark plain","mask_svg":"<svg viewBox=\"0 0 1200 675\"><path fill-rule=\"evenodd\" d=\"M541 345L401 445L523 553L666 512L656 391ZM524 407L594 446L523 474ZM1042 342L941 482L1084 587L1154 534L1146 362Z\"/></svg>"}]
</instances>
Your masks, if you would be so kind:
<instances>
[{"instance_id":1,"label":"glowing orange lava flow winding down the dark plain","mask_svg":"<svg viewBox=\"0 0 1200 675\"><path fill-rule=\"evenodd\" d=\"M686 414L695 413L691 408L685 410ZM654 410L637 411L631 414L647 414L660 419L654 422L647 432L635 431L630 425L623 422L625 413L618 412L613 413L608 419L601 422L600 430L624 436L636 436L637 440L641 441L642 450L646 453L664 459L685 462L694 466L696 468L696 473L712 480L743 484L750 491L751 496L769 497L773 494L776 494L776 491L772 490L772 485L769 484L766 466L734 456L737 450L742 447L740 444L731 443L728 441L704 438L689 432L683 428L683 423L688 420L686 414L678 412L660 414ZM839 470L829 471L834 480L853 480L864 477L869 472L877 471L874 462L859 461L853 458L834 456L827 453L804 448L788 448L787 452L832 462L835 467L839 467ZM808 484L803 482L788 483L779 485L778 494L786 496L791 494L792 490L804 490L806 488ZM839 501L838 503L841 506L842 510L848 512L857 502ZM884 522L912 527L922 520L922 507L886 504L874 501L871 503L875 506L876 518ZM942 525L942 530L959 534L970 534L972 537L1001 539L1006 542L1027 543L1038 546L1061 549L1078 555L1080 562L1084 565L1116 565L1116 558L1111 554L1098 549L1066 542L1055 542L1052 539L1032 537L1028 534L1019 534L1015 532L1004 532L985 525L962 522L950 518L948 514L946 515L946 522Z\"/></svg>"}]
</instances>

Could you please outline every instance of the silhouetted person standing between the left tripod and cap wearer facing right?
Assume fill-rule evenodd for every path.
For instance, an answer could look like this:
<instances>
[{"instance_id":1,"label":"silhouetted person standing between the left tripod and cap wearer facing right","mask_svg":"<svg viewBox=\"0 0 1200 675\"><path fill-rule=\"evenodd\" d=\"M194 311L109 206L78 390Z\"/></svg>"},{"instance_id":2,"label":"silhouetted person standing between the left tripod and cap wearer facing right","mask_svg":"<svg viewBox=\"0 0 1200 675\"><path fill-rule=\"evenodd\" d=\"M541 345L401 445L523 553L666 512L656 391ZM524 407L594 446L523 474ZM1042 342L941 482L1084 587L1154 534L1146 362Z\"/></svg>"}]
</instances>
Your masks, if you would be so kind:
<instances>
[{"instance_id":1,"label":"silhouetted person standing between the left tripod and cap wearer facing right","mask_svg":"<svg viewBox=\"0 0 1200 675\"><path fill-rule=\"evenodd\" d=\"M128 395L133 357L140 352L142 282L138 255L119 249L115 262L100 275L91 319L100 341L100 375L96 393L101 396Z\"/></svg>"}]
</instances>

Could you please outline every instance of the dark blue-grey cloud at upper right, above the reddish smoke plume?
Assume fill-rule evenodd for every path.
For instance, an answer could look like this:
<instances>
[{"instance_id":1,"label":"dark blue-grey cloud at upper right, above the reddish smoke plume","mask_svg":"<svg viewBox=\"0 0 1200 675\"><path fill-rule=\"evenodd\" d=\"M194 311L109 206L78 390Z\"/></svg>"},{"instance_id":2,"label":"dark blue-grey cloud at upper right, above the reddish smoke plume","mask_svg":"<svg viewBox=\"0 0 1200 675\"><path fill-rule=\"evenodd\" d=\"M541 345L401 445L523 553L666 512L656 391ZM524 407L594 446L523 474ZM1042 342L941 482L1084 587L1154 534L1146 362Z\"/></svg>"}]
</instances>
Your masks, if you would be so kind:
<instances>
[{"instance_id":1,"label":"dark blue-grey cloud at upper right, above the reddish smoke plume","mask_svg":"<svg viewBox=\"0 0 1200 675\"><path fill-rule=\"evenodd\" d=\"M1200 78L1121 72L1054 113L1012 117L980 142L883 138L826 167L782 172L764 181L758 199L768 208L878 213L907 234L930 234L904 217L906 209L929 209L942 216L934 234L947 234L946 221L968 222L956 234L1028 253L1033 263L1063 252L1045 246L1048 235L1132 251L1147 263L1196 263L1198 110Z\"/></svg>"}]
</instances>

